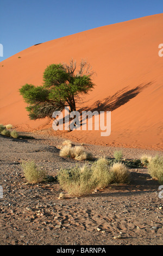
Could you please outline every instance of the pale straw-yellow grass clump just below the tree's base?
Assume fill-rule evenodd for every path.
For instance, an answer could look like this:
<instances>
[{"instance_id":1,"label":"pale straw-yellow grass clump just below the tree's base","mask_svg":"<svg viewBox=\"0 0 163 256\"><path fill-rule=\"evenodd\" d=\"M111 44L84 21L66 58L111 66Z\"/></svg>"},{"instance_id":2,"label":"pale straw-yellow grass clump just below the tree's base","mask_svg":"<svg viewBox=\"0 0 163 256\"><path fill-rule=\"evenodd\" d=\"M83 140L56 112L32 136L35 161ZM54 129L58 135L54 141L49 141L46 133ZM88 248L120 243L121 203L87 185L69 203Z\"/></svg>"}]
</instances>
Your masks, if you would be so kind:
<instances>
[{"instance_id":1,"label":"pale straw-yellow grass clump just below the tree's base","mask_svg":"<svg viewBox=\"0 0 163 256\"><path fill-rule=\"evenodd\" d=\"M90 160L92 159L92 154L85 151L82 146L70 147L69 145L65 145L60 150L61 157L71 157L75 160Z\"/></svg>"}]
</instances>

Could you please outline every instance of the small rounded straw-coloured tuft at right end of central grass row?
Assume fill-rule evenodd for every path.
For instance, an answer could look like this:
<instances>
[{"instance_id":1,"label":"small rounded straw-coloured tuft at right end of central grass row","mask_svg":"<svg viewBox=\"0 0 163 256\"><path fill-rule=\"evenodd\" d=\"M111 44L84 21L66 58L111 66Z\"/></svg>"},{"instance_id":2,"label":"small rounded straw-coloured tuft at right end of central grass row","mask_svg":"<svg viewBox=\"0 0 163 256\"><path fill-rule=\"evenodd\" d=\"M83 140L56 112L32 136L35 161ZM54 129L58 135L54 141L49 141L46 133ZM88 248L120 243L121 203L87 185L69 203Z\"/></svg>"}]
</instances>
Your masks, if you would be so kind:
<instances>
[{"instance_id":1,"label":"small rounded straw-coloured tuft at right end of central grass row","mask_svg":"<svg viewBox=\"0 0 163 256\"><path fill-rule=\"evenodd\" d=\"M116 183L126 183L130 181L130 172L124 163L112 164L110 172L114 174L114 181Z\"/></svg>"}]
</instances>

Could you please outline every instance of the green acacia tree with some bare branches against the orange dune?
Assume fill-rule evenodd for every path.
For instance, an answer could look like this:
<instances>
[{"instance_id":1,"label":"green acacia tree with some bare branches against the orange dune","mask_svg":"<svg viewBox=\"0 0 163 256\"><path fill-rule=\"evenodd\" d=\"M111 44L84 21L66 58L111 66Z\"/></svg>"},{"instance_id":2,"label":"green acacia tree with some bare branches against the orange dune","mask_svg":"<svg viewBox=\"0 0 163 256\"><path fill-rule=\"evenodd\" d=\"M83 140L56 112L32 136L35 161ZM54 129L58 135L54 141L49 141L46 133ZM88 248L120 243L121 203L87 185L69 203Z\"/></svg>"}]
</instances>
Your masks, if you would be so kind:
<instances>
[{"instance_id":1,"label":"green acacia tree with some bare branches against the orange dune","mask_svg":"<svg viewBox=\"0 0 163 256\"><path fill-rule=\"evenodd\" d=\"M91 76L95 72L85 60L82 60L77 70L73 59L69 64L51 64L43 73L43 85L35 87L25 84L20 88L20 94L28 104L26 107L30 119L49 117L54 111L62 111L70 107L76 111L76 104L82 94L87 94L95 84Z\"/></svg>"}]
</instances>

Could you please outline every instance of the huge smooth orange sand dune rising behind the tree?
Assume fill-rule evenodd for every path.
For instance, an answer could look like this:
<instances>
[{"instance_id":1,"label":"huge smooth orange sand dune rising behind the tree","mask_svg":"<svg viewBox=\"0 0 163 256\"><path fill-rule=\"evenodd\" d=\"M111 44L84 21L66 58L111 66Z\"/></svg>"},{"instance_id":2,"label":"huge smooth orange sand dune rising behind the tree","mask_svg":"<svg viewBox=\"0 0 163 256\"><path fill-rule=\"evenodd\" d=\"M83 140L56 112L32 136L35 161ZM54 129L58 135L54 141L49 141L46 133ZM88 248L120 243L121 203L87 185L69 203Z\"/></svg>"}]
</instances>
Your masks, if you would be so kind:
<instances>
[{"instance_id":1,"label":"huge smooth orange sand dune rising behind the tree","mask_svg":"<svg viewBox=\"0 0 163 256\"><path fill-rule=\"evenodd\" d=\"M163 14L157 14L44 42L5 59L0 63L0 123L23 131L52 127L47 119L29 120L18 89L25 83L42 84L49 64L87 59L97 76L83 106L91 110L99 100L105 110L111 109L111 135L72 131L64 136L91 144L162 150L163 57L158 54L162 31Z\"/></svg>"}]
</instances>

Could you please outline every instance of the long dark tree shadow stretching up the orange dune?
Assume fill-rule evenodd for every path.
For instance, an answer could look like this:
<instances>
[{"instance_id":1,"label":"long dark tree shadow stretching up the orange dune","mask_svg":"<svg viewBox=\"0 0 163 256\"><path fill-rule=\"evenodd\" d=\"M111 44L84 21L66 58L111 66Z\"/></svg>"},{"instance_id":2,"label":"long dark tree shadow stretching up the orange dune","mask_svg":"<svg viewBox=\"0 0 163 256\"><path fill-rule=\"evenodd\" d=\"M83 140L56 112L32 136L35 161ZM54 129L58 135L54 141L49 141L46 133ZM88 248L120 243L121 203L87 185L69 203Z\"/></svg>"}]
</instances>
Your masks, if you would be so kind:
<instances>
[{"instance_id":1,"label":"long dark tree shadow stretching up the orange dune","mask_svg":"<svg viewBox=\"0 0 163 256\"><path fill-rule=\"evenodd\" d=\"M142 92L143 89L150 86L152 82L146 84L140 84L133 89L129 89L128 87L124 87L121 90L118 90L114 95L108 96L102 101L96 101L90 107L80 108L78 111L81 113L82 111L114 111L116 108L121 107L126 104L128 101L136 97L139 93Z\"/></svg>"}]
</instances>

